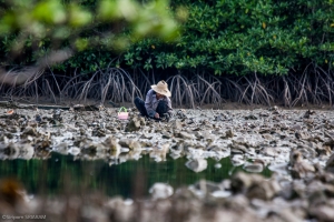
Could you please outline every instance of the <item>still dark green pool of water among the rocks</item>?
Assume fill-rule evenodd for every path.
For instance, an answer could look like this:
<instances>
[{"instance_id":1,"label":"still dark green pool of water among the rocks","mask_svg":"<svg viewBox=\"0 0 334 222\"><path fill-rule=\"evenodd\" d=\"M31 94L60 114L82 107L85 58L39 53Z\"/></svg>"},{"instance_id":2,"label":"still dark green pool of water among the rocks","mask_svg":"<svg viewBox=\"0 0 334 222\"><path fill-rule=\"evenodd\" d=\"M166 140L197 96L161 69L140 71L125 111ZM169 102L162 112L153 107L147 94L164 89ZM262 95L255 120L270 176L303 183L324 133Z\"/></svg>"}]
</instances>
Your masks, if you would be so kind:
<instances>
[{"instance_id":1,"label":"still dark green pool of water among the rocks","mask_svg":"<svg viewBox=\"0 0 334 222\"><path fill-rule=\"evenodd\" d=\"M148 154L139 160L109 165L104 160L75 160L72 155L51 153L47 160L2 160L0 179L16 178L31 194L59 195L98 191L109 196L145 196L156 182L170 184L173 188L194 184L200 179L220 182L230 178L242 167L233 167L229 158L216 161L208 159L207 169L196 173L185 167L186 158L176 160L168 157L164 162L156 162ZM220 163L220 168L216 168ZM271 171L262 172L271 176Z\"/></svg>"}]
</instances>

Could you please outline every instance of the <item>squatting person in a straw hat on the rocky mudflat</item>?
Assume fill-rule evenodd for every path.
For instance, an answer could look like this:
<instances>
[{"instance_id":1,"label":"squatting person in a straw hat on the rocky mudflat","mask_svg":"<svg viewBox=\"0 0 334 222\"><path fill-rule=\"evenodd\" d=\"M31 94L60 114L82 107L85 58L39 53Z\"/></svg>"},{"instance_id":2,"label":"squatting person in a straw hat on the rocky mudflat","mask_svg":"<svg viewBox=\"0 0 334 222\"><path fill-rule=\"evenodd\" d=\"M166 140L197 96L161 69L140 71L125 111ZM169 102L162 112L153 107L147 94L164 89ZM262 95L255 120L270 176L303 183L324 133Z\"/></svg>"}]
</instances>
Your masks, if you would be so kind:
<instances>
[{"instance_id":1,"label":"squatting person in a straw hat on the rocky mudflat","mask_svg":"<svg viewBox=\"0 0 334 222\"><path fill-rule=\"evenodd\" d=\"M150 90L146 94L145 102L140 98L135 99L135 105L140 114L155 120L166 119L169 121L173 114L170 102L171 93L168 84L161 80L158 84L150 85Z\"/></svg>"}]
</instances>

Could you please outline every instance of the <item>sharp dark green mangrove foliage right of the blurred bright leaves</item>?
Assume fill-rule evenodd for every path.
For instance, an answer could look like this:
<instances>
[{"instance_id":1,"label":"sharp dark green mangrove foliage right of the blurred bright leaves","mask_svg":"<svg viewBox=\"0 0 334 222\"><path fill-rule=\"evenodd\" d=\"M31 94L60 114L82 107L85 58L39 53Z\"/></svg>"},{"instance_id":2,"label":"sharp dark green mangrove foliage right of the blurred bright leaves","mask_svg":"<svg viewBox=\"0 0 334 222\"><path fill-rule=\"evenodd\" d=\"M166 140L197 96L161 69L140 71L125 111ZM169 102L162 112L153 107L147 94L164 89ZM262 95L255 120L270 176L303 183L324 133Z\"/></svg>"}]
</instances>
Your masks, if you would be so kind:
<instances>
[{"instance_id":1,"label":"sharp dark green mangrove foliage right of the blurred bright leaves","mask_svg":"<svg viewBox=\"0 0 334 222\"><path fill-rule=\"evenodd\" d=\"M127 64L215 74L286 74L313 62L334 64L334 1L187 0L177 44L143 40Z\"/></svg>"}]
</instances>

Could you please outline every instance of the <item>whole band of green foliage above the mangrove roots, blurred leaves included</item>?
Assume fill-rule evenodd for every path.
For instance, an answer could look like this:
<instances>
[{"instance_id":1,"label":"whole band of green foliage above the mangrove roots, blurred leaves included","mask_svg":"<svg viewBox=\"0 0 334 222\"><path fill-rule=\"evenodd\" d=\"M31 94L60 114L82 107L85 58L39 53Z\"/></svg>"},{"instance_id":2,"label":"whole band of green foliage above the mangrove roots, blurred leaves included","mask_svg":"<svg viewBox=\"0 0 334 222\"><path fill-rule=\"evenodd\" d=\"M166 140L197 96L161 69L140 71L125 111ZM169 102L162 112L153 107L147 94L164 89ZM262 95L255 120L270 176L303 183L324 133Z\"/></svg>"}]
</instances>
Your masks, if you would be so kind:
<instances>
[{"instance_id":1,"label":"whole band of green foliage above the mangrove roots, blurred leaves included","mask_svg":"<svg viewBox=\"0 0 334 222\"><path fill-rule=\"evenodd\" d=\"M13 2L19 4L21 1ZM90 0L40 1L32 13L22 13L22 6L13 8L17 4L2 3L1 21L11 24L2 22L0 26L2 65L32 63L55 44L56 48L70 46L78 50L68 62L57 67L63 71L80 68L81 72L95 72L112 61L116 67L143 70L282 75L291 71L302 72L311 62L324 70L334 64L333 0L174 0L170 6L158 1L159 4L150 7L145 4L148 1L137 1L140 9L147 11L135 19L130 12L121 18L121 13L127 12L115 3L121 1L98 2L101 4ZM57 10L47 13L39 10L41 7ZM148 12L154 12L154 16L148 16ZM19 17L19 13L22 14ZM180 24L183 32L179 32L177 42L160 41L164 34L141 38L144 33L151 33L146 26L156 22L157 14L185 21ZM14 16L26 23L19 23ZM31 18L40 21L40 26L32 26ZM120 20L115 22L116 19ZM22 28L28 26L27 22L30 22L29 33L17 32L27 33ZM166 22L166 29L173 30L173 22L168 19L150 28L166 33L161 28ZM52 26L55 28L49 33ZM43 33L42 38L39 38L40 33ZM127 51L117 51L120 46ZM13 53L18 49L20 53Z\"/></svg>"}]
</instances>

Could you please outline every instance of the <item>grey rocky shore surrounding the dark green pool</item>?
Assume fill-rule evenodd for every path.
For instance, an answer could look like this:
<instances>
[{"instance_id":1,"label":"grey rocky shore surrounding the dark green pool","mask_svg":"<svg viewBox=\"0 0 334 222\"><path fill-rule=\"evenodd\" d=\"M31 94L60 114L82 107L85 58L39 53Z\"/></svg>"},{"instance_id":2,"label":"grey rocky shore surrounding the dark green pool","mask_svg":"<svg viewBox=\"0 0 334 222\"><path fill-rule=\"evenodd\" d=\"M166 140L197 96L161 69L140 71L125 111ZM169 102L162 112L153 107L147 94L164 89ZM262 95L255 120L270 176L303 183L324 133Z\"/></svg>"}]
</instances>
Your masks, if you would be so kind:
<instances>
[{"instance_id":1,"label":"grey rocky shore surrounding the dark green pool","mask_svg":"<svg viewBox=\"0 0 334 222\"><path fill-rule=\"evenodd\" d=\"M332 111L176 110L169 122L116 109L0 110L0 159L46 159L50 152L109 164L149 153L187 157L202 172L207 159L230 157L243 165L219 183L187 188L156 183L150 196L100 194L27 199L18 182L0 182L2 214L46 214L48 221L334 221L334 119ZM257 174L269 168L267 179Z\"/></svg>"}]
</instances>

